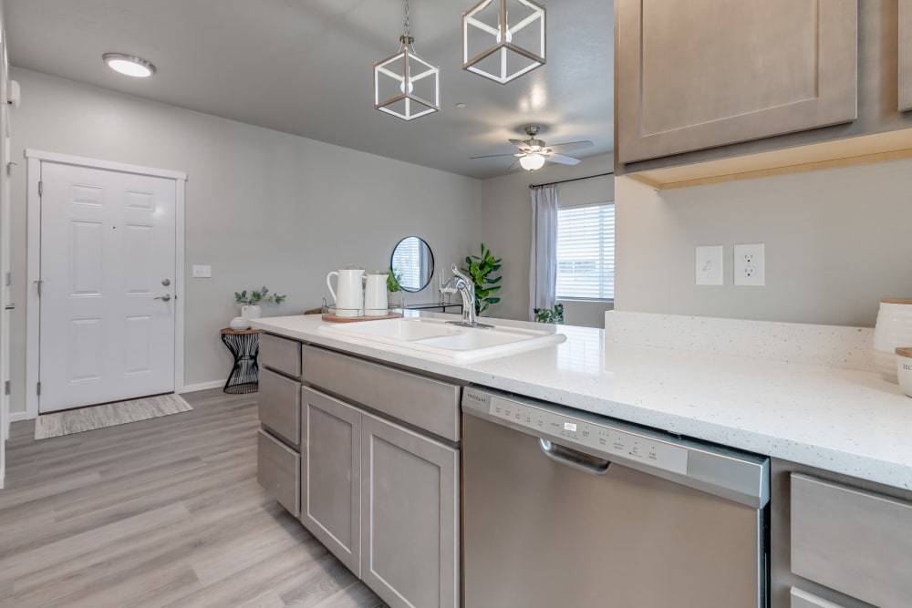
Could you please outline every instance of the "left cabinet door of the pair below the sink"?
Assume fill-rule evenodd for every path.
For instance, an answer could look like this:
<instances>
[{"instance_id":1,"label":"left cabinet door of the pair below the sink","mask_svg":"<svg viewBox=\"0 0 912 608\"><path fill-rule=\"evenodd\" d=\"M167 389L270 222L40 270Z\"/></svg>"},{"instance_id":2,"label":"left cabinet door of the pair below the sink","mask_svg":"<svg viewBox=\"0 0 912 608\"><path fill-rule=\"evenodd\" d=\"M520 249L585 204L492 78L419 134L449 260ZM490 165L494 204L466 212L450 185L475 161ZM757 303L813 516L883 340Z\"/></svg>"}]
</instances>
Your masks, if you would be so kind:
<instances>
[{"instance_id":1,"label":"left cabinet door of the pair below the sink","mask_svg":"<svg viewBox=\"0 0 912 608\"><path fill-rule=\"evenodd\" d=\"M301 522L358 574L361 412L301 389Z\"/></svg>"}]
</instances>

